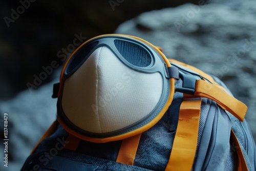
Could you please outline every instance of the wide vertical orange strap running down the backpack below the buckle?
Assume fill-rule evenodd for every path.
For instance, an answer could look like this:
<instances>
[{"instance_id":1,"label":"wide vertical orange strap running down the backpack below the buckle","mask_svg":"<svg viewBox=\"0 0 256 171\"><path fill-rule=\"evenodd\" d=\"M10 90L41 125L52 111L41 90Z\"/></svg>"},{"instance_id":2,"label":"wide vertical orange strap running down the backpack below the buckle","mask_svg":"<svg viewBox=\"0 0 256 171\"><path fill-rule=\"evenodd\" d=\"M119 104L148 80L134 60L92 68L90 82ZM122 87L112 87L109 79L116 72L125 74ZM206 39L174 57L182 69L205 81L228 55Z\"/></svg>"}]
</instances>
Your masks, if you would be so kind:
<instances>
[{"instance_id":1,"label":"wide vertical orange strap running down the backpack below the buckle","mask_svg":"<svg viewBox=\"0 0 256 171\"><path fill-rule=\"evenodd\" d=\"M197 150L201 101L201 98L185 99L181 103L172 152L165 170L191 170Z\"/></svg>"}]
</instances>

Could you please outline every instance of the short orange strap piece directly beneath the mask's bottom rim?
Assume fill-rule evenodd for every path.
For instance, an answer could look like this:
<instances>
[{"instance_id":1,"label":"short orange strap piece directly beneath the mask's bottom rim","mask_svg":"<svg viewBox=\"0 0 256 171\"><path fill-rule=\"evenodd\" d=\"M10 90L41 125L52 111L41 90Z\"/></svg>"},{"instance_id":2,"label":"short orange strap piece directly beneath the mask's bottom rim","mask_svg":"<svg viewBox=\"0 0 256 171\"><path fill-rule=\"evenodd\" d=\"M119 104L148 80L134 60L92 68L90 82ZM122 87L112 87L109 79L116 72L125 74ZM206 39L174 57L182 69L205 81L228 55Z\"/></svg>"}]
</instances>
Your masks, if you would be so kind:
<instances>
[{"instance_id":1,"label":"short orange strap piece directly beneath the mask's bottom rim","mask_svg":"<svg viewBox=\"0 0 256 171\"><path fill-rule=\"evenodd\" d=\"M116 162L133 165L141 134L122 140Z\"/></svg>"}]
</instances>

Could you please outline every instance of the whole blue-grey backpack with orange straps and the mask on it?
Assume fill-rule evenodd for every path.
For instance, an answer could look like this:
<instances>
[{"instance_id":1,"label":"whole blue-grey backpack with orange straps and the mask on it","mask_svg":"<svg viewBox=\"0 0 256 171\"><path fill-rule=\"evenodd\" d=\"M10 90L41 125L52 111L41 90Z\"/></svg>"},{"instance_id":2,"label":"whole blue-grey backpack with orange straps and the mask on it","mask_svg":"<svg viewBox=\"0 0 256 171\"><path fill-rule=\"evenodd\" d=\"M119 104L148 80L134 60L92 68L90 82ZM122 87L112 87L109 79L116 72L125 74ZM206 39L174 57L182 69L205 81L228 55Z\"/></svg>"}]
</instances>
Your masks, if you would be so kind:
<instances>
[{"instance_id":1,"label":"whole blue-grey backpack with orange straps and the mask on it","mask_svg":"<svg viewBox=\"0 0 256 171\"><path fill-rule=\"evenodd\" d=\"M256 170L247 106L141 38L84 42L53 97L57 119L22 170Z\"/></svg>"}]
</instances>

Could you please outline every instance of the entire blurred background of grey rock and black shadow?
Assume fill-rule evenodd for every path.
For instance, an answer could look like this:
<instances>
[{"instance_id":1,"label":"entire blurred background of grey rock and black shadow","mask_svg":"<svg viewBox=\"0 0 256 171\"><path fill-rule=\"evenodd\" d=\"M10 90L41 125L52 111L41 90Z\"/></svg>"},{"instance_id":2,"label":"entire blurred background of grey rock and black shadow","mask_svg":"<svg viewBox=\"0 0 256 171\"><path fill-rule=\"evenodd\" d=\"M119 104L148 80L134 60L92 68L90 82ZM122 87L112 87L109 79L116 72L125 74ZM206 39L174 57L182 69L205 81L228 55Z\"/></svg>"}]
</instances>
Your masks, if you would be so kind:
<instances>
[{"instance_id":1,"label":"entire blurred background of grey rock and black shadow","mask_svg":"<svg viewBox=\"0 0 256 171\"><path fill-rule=\"evenodd\" d=\"M19 170L55 119L62 62L79 42L105 33L139 36L221 78L248 105L256 137L255 1L1 1L0 14L1 134L4 113L9 130L9 164L0 170Z\"/></svg>"}]
</instances>

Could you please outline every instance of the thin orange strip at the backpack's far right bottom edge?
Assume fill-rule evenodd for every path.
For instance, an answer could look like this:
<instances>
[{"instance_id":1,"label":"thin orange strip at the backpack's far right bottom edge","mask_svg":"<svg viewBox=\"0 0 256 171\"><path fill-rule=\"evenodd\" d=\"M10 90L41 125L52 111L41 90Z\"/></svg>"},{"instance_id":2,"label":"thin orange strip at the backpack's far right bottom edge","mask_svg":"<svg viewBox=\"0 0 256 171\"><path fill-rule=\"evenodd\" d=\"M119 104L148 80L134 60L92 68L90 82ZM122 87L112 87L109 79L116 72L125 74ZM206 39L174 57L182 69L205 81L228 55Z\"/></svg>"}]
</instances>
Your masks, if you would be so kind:
<instances>
[{"instance_id":1,"label":"thin orange strip at the backpack's far right bottom edge","mask_svg":"<svg viewBox=\"0 0 256 171\"><path fill-rule=\"evenodd\" d=\"M248 167L244 158L244 154L241 149L241 145L239 144L238 138L236 134L234 134L234 131L231 130L231 137L234 141L234 145L236 147L236 151L238 154L238 171L248 171Z\"/></svg>"}]
</instances>

